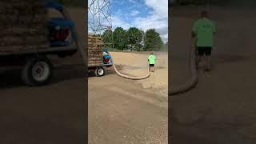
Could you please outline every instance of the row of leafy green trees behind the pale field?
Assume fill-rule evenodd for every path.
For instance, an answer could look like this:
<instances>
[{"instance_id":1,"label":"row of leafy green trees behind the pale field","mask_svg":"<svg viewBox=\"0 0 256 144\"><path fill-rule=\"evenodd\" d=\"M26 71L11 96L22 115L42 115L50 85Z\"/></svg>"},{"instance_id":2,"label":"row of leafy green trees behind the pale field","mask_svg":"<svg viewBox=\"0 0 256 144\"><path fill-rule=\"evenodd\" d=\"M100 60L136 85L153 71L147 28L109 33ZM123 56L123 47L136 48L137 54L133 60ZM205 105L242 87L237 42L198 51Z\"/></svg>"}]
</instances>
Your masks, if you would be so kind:
<instances>
[{"instance_id":1,"label":"row of leafy green trees behind the pale field","mask_svg":"<svg viewBox=\"0 0 256 144\"><path fill-rule=\"evenodd\" d=\"M116 50L168 50L167 42L164 43L154 29L144 32L136 27L130 27L129 30L117 27L114 31L106 30L102 38L105 44L113 43Z\"/></svg>"}]
</instances>

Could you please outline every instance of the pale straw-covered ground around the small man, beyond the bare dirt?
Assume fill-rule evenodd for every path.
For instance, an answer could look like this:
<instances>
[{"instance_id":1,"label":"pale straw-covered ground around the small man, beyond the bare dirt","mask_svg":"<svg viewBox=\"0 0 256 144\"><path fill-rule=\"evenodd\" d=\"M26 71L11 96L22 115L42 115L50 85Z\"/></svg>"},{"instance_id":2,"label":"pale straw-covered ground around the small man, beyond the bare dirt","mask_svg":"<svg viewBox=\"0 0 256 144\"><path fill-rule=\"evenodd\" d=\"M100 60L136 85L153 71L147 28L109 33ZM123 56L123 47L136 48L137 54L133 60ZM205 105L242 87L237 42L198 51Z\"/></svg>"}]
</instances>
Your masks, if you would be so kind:
<instances>
[{"instance_id":1,"label":"pale straw-covered ground around the small man, beyond the bare dirt","mask_svg":"<svg viewBox=\"0 0 256 144\"><path fill-rule=\"evenodd\" d=\"M148 54L112 52L114 63L122 66L121 72L142 76L147 73ZM168 86L168 54L165 52L155 52L157 57L154 73L150 73L150 78L139 80L143 88L159 90L162 94L167 95Z\"/></svg>"}]
</instances>

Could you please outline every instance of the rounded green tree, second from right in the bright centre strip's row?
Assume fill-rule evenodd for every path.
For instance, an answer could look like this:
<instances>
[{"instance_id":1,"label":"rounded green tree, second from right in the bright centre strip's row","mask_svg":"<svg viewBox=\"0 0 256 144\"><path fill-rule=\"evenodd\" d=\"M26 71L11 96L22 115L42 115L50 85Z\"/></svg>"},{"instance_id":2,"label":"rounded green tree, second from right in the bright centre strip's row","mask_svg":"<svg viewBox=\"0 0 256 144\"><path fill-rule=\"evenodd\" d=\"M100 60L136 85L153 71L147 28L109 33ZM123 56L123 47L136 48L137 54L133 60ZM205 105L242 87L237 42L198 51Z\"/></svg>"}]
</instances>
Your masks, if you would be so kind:
<instances>
[{"instance_id":1,"label":"rounded green tree, second from right in the bright centre strip's row","mask_svg":"<svg viewBox=\"0 0 256 144\"><path fill-rule=\"evenodd\" d=\"M138 50L141 48L142 42L142 31L138 30L136 27L130 27L130 29L126 33L126 38L128 40L128 44Z\"/></svg>"}]
</instances>

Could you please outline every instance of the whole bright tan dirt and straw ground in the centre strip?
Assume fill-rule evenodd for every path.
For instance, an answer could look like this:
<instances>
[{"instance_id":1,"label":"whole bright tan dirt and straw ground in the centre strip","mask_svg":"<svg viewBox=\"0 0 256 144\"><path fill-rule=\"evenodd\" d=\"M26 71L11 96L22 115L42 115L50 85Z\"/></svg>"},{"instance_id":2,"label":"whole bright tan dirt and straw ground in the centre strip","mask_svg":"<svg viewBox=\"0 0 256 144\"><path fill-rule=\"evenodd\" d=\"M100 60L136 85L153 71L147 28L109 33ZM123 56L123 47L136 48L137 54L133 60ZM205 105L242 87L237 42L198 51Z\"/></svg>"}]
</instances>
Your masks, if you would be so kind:
<instances>
[{"instance_id":1,"label":"whole bright tan dirt and straw ground in the centre strip","mask_svg":"<svg viewBox=\"0 0 256 144\"><path fill-rule=\"evenodd\" d=\"M146 74L146 54L110 54L122 73ZM113 69L89 78L90 143L167 143L167 94L161 91L167 88L166 56L157 54L157 70L149 80L121 78Z\"/></svg>"}]
</instances>

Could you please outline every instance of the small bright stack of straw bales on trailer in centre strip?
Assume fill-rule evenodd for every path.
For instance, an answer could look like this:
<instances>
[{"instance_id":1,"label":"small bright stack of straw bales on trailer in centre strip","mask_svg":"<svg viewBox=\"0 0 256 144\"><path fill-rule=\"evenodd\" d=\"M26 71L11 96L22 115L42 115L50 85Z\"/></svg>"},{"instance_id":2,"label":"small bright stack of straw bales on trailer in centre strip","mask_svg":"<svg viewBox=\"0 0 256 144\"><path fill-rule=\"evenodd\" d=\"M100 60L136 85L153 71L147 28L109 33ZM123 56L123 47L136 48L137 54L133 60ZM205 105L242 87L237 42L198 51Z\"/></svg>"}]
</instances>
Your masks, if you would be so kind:
<instances>
[{"instance_id":1,"label":"small bright stack of straw bales on trailer in centre strip","mask_svg":"<svg viewBox=\"0 0 256 144\"><path fill-rule=\"evenodd\" d=\"M102 38L88 35L88 66L102 65Z\"/></svg>"}]
</instances>

